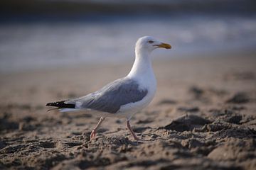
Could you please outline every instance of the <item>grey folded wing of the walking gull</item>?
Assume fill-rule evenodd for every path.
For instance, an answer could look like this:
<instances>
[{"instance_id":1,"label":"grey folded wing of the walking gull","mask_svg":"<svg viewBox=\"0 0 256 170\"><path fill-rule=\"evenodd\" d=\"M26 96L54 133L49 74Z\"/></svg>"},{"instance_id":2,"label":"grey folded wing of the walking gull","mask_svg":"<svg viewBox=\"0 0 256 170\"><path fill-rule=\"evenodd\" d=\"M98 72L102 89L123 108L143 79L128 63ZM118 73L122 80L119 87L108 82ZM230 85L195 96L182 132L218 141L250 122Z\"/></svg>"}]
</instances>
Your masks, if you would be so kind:
<instances>
[{"instance_id":1,"label":"grey folded wing of the walking gull","mask_svg":"<svg viewBox=\"0 0 256 170\"><path fill-rule=\"evenodd\" d=\"M75 99L75 106L117 113L121 106L141 101L147 93L147 89L139 89L139 84L135 80L117 79L95 93Z\"/></svg>"}]
</instances>

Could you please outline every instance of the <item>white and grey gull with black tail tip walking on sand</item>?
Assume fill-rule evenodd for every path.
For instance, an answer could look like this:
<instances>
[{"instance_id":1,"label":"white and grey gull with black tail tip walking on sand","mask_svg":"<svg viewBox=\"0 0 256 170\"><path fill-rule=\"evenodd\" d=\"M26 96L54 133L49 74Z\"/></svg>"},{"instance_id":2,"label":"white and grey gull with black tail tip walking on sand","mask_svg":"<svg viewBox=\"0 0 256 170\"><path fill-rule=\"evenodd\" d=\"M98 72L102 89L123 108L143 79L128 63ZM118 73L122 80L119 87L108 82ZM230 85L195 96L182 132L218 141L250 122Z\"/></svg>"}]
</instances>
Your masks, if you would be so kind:
<instances>
[{"instance_id":1,"label":"white and grey gull with black tail tip walking on sand","mask_svg":"<svg viewBox=\"0 0 256 170\"><path fill-rule=\"evenodd\" d=\"M92 129L90 140L95 137L106 117L126 118L127 128L134 140L139 140L129 121L134 113L149 105L156 93L156 78L150 54L157 48L171 49L171 45L150 36L139 38L135 46L135 61L126 77L112 81L87 96L47 103L46 106L54 106L53 109L60 112L84 111L100 115L99 122Z\"/></svg>"}]
</instances>

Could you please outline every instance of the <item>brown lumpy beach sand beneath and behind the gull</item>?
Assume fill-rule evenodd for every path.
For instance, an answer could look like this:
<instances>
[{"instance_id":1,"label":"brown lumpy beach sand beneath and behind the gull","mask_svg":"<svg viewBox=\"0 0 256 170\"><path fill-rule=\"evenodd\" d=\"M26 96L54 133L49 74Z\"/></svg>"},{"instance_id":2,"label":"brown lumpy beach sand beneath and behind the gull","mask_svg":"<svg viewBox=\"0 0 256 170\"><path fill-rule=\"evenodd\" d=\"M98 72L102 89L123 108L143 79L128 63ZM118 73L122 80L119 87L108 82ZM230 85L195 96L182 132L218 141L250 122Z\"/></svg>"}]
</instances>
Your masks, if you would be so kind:
<instances>
[{"instance_id":1,"label":"brown lumpy beach sand beneath and behind the gull","mask_svg":"<svg viewBox=\"0 0 256 170\"><path fill-rule=\"evenodd\" d=\"M156 97L132 118L46 112L125 76L129 64L0 75L0 169L256 169L256 57L154 61Z\"/></svg>"}]
</instances>

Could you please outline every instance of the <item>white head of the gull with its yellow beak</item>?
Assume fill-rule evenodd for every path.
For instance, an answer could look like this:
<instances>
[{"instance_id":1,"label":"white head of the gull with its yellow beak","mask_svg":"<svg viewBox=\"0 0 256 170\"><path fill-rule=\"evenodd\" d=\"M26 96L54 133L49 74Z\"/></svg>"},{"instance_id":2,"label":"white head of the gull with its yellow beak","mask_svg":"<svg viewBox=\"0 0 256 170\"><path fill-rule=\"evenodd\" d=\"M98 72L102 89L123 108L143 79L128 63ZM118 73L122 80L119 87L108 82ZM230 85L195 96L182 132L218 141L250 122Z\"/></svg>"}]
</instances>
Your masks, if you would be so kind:
<instances>
[{"instance_id":1,"label":"white head of the gull with its yellow beak","mask_svg":"<svg viewBox=\"0 0 256 170\"><path fill-rule=\"evenodd\" d=\"M136 52L152 52L156 48L166 48L171 49L171 45L160 42L159 40L156 40L155 38L152 38L150 36L144 36L142 38L139 38L136 42L135 50Z\"/></svg>"}]
</instances>

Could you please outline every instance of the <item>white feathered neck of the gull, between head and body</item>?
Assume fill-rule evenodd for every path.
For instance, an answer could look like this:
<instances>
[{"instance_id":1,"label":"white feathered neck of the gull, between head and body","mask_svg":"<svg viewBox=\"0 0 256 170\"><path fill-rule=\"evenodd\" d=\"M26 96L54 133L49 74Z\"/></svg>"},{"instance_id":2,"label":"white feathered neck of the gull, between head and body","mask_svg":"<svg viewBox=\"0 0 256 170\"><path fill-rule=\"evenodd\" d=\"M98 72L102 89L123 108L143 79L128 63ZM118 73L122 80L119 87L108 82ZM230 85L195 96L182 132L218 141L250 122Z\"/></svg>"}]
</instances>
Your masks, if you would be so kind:
<instances>
[{"instance_id":1,"label":"white feathered neck of the gull, between head and body","mask_svg":"<svg viewBox=\"0 0 256 170\"><path fill-rule=\"evenodd\" d=\"M154 77L154 72L151 66L151 58L149 52L143 52L140 50L135 51L135 61L132 66L131 71L128 74L128 77Z\"/></svg>"}]
</instances>

